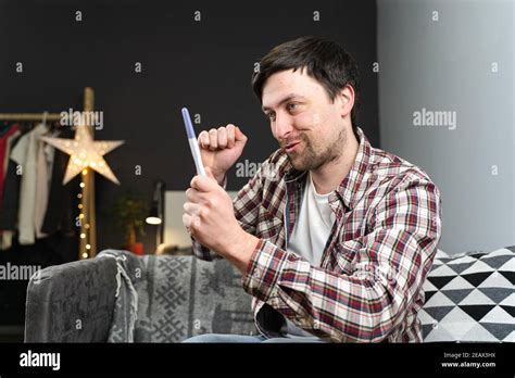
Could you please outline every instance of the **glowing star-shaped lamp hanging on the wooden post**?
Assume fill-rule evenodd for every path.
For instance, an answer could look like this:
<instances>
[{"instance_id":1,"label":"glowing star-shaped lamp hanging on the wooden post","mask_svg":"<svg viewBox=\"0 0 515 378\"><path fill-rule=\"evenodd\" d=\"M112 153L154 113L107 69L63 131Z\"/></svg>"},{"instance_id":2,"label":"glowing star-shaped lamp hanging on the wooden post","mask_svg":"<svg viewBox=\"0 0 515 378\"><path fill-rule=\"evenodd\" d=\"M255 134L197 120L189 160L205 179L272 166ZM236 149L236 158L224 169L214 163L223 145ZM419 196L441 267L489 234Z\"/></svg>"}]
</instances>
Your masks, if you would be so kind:
<instances>
[{"instance_id":1,"label":"glowing star-shaped lamp hanging on the wooden post","mask_svg":"<svg viewBox=\"0 0 515 378\"><path fill-rule=\"evenodd\" d=\"M93 140L88 126L77 126L74 139L41 137L41 140L70 155L63 185L78 175L83 169L90 167L99 174L118 184L116 176L109 167L103 155L124 143L123 140Z\"/></svg>"}]
</instances>

